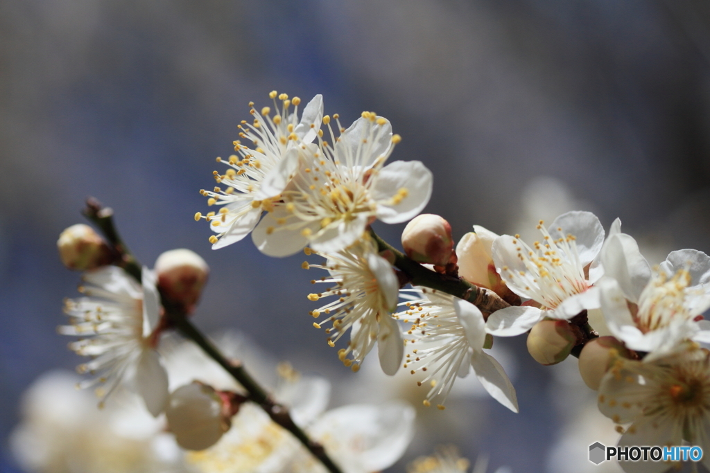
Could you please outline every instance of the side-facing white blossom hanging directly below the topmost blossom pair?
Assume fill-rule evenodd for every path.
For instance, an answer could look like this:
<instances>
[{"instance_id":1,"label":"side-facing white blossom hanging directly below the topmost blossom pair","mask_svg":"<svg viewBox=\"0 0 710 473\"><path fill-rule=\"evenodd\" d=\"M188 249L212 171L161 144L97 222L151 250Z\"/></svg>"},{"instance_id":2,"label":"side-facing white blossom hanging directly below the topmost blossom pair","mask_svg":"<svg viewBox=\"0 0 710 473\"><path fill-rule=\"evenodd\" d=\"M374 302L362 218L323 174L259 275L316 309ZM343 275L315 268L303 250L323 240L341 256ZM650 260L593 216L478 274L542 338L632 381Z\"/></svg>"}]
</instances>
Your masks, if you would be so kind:
<instances>
[{"instance_id":1,"label":"side-facing white blossom hanging directly below the topmost blossom pair","mask_svg":"<svg viewBox=\"0 0 710 473\"><path fill-rule=\"evenodd\" d=\"M332 328L325 330L331 346L350 329L348 347L338 352L340 360L356 371L377 342L383 371L395 374L404 351L400 326L391 316L397 306L399 282L389 262L376 251L375 243L370 238L364 238L347 250L323 254L327 258L325 265L305 262L303 267L327 269L330 273L329 278L314 279L312 282L334 286L327 291L310 294L308 299L338 298L311 311L311 315L319 317L323 313L329 316L314 325L320 328L323 323L332 322ZM347 358L350 353L352 360Z\"/></svg>"}]
</instances>

